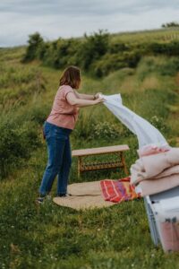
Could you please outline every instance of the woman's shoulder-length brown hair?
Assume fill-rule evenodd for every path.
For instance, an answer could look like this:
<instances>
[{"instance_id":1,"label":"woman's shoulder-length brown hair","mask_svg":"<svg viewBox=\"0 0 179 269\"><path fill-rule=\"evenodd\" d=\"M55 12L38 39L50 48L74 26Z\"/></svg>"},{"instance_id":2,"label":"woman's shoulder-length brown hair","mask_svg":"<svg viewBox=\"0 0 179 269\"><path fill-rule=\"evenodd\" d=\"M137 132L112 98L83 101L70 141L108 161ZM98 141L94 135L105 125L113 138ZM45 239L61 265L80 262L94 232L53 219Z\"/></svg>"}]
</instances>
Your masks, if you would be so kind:
<instances>
[{"instance_id":1,"label":"woman's shoulder-length brown hair","mask_svg":"<svg viewBox=\"0 0 179 269\"><path fill-rule=\"evenodd\" d=\"M69 66L64 69L60 78L60 86L69 85L72 89L79 89L81 83L81 70L76 66Z\"/></svg>"}]
</instances>

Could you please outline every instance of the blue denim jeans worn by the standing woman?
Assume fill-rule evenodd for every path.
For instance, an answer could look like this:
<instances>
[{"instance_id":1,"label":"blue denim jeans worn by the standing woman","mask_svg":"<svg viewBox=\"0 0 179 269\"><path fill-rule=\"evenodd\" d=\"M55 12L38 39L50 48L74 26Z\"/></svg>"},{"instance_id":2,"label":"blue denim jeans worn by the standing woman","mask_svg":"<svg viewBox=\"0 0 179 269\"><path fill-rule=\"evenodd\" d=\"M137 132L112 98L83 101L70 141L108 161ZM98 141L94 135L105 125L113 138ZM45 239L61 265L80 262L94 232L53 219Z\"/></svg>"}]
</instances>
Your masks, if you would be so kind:
<instances>
[{"instance_id":1,"label":"blue denim jeans worn by the standing woman","mask_svg":"<svg viewBox=\"0 0 179 269\"><path fill-rule=\"evenodd\" d=\"M47 195L50 192L56 176L58 176L57 195L66 194L72 164L71 133L71 129L45 122L44 134L47 141L48 162L39 187L40 195Z\"/></svg>"}]
</instances>

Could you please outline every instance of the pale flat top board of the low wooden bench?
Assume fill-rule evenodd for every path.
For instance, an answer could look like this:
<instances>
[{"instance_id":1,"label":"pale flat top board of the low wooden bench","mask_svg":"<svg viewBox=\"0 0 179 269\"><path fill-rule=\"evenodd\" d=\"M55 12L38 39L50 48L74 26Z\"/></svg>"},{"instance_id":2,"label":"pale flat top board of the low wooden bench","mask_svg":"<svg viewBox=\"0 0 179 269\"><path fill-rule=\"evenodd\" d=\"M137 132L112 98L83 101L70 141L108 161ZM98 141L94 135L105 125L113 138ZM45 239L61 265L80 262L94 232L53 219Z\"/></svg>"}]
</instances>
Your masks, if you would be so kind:
<instances>
[{"instance_id":1,"label":"pale flat top board of the low wooden bench","mask_svg":"<svg viewBox=\"0 0 179 269\"><path fill-rule=\"evenodd\" d=\"M106 154L106 153L113 153L113 152L124 152L128 150L129 150L129 146L127 144L122 144L122 145L114 145L114 146L109 146L109 147L75 150L75 151L72 151L72 157L98 155L98 154Z\"/></svg>"}]
</instances>

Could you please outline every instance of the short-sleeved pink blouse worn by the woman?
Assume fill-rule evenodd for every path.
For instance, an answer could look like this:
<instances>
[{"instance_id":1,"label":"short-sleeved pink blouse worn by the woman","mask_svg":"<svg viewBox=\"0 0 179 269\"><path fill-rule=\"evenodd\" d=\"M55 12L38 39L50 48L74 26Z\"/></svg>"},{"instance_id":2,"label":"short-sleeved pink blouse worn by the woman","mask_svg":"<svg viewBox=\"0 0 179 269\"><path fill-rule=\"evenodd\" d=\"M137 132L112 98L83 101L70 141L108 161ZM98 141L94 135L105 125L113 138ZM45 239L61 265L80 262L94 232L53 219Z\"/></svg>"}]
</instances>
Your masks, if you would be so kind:
<instances>
[{"instance_id":1,"label":"short-sleeved pink blouse worn by the woman","mask_svg":"<svg viewBox=\"0 0 179 269\"><path fill-rule=\"evenodd\" d=\"M79 108L72 106L66 100L69 92L73 92L72 87L69 85L60 86L55 95L50 115L47 117L47 122L68 129L73 129L77 118Z\"/></svg>"}]
</instances>

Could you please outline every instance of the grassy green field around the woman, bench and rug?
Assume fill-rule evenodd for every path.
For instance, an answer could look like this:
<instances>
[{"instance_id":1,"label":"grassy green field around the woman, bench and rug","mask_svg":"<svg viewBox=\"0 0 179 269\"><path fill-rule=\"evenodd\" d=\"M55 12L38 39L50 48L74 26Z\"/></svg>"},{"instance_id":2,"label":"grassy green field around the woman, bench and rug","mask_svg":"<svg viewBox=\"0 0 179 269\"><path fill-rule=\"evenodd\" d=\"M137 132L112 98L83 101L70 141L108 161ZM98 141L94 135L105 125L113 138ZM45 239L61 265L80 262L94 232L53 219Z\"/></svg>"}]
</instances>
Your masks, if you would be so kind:
<instances>
[{"instance_id":1,"label":"grassy green field around the woman, bench and rug","mask_svg":"<svg viewBox=\"0 0 179 269\"><path fill-rule=\"evenodd\" d=\"M168 36L173 34L167 31ZM166 32L113 38L138 42L139 35L162 40ZM84 212L59 207L50 200L35 204L47 161L41 128L61 71L39 60L22 64L25 49L0 49L0 268L179 268L177 253L166 255L160 246L154 247L142 199ZM157 126L171 145L179 146L176 61L175 56L143 56L137 67L125 67L102 78L82 71L80 91L120 92L127 107ZM136 137L102 104L81 108L71 142L72 150L128 143L128 169L137 158ZM123 176L117 170L90 172L78 179L77 160L73 159L70 183Z\"/></svg>"}]
</instances>

